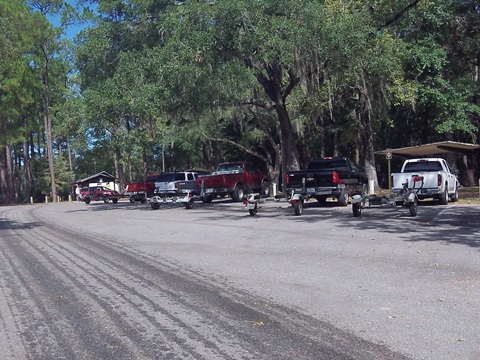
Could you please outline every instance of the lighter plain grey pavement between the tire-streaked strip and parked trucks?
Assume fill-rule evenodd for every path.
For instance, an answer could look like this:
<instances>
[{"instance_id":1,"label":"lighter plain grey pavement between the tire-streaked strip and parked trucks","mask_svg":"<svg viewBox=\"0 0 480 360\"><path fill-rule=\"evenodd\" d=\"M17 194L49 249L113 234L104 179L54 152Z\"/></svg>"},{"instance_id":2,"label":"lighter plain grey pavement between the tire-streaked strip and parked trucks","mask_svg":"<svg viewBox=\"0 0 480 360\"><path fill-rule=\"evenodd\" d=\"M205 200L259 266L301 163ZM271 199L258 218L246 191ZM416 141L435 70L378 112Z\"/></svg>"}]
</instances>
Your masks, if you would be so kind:
<instances>
[{"instance_id":1,"label":"lighter plain grey pavement between the tire-streaked strip and parked trucks","mask_svg":"<svg viewBox=\"0 0 480 360\"><path fill-rule=\"evenodd\" d=\"M307 203L295 216L273 200L255 217L228 199L191 210L126 201L31 208L55 227L168 260L407 357L480 358L478 206L424 203L417 217L377 208L360 218L335 203Z\"/></svg>"}]
</instances>

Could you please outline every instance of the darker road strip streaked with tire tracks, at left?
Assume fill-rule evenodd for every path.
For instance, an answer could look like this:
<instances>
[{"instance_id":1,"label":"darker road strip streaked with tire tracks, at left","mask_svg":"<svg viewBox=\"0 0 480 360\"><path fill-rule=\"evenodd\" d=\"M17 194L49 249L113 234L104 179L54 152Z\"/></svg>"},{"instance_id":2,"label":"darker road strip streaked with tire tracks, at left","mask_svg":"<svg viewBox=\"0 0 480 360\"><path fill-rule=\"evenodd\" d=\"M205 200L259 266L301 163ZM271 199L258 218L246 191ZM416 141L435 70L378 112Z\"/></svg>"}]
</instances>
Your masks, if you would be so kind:
<instances>
[{"instance_id":1,"label":"darker road strip streaked with tire tracks, at left","mask_svg":"<svg viewBox=\"0 0 480 360\"><path fill-rule=\"evenodd\" d=\"M35 359L404 358L168 259L61 229L32 209L9 212L13 240L2 230L1 250L10 272L2 287L18 301L14 315Z\"/></svg>"}]
</instances>

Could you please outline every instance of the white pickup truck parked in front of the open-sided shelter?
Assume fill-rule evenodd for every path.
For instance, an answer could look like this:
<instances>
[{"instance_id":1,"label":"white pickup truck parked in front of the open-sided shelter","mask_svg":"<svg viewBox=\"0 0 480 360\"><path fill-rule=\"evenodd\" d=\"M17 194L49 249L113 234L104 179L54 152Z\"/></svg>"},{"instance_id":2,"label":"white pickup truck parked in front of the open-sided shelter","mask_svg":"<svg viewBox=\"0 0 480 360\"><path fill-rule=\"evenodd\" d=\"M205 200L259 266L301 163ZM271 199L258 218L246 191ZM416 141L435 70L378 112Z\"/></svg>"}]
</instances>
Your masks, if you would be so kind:
<instances>
[{"instance_id":1,"label":"white pickup truck parked in front of the open-sided shelter","mask_svg":"<svg viewBox=\"0 0 480 360\"><path fill-rule=\"evenodd\" d=\"M413 186L413 179L420 176L423 178L423 185L420 187L417 196L419 200L433 198L440 204L447 205L451 201L458 200L459 182L457 179L458 170L452 170L448 162L442 158L423 158L405 160L399 173L393 173L392 192L401 193L405 182Z\"/></svg>"}]
</instances>

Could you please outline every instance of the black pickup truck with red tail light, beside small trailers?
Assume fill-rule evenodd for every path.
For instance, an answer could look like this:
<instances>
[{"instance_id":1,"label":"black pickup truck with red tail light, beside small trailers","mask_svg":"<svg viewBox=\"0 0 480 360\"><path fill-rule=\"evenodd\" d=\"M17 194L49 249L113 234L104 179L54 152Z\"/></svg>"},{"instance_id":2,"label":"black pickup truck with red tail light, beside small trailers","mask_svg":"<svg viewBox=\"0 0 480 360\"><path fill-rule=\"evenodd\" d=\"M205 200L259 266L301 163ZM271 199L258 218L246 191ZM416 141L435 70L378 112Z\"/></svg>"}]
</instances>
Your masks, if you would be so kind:
<instances>
[{"instance_id":1,"label":"black pickup truck with red tail light, beside small trailers","mask_svg":"<svg viewBox=\"0 0 480 360\"><path fill-rule=\"evenodd\" d=\"M285 191L295 215L302 214L303 202L309 198L322 203L331 197L346 206L349 197L365 193L368 184L363 168L346 157L314 159L306 170L287 172L285 180Z\"/></svg>"}]
</instances>

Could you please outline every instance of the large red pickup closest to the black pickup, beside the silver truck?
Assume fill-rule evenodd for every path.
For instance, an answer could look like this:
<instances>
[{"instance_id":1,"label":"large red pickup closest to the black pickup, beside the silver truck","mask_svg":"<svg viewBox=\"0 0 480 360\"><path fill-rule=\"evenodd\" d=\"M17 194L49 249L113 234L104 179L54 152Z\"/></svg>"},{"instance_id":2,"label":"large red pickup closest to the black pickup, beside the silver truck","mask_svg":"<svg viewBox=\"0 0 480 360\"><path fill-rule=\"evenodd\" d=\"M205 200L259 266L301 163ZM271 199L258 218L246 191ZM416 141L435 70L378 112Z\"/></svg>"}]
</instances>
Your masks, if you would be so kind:
<instances>
[{"instance_id":1,"label":"large red pickup closest to the black pickup, beside the silver truck","mask_svg":"<svg viewBox=\"0 0 480 360\"><path fill-rule=\"evenodd\" d=\"M231 196L234 201L242 201L244 194L259 192L270 195L267 173L254 168L251 164L239 161L218 165L210 175L200 175L195 188L204 203L211 202L216 196Z\"/></svg>"}]
</instances>

